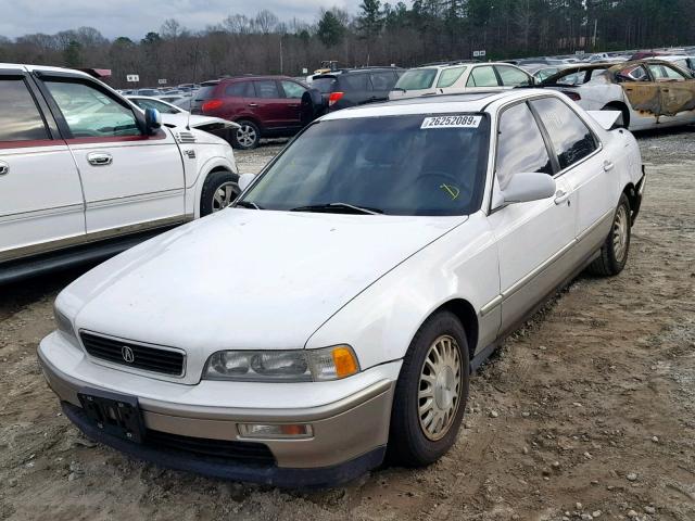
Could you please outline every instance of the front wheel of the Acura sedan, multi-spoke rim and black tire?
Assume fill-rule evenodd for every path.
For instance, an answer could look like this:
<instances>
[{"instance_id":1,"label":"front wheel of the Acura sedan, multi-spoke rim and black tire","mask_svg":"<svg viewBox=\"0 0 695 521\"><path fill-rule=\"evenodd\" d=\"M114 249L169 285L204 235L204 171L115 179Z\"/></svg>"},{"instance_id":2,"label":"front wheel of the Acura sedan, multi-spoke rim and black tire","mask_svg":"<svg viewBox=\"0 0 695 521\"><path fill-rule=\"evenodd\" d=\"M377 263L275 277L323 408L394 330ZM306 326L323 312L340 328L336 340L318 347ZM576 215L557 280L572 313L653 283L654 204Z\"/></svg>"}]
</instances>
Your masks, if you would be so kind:
<instances>
[{"instance_id":1,"label":"front wheel of the Acura sedan, multi-spoke rim and black tire","mask_svg":"<svg viewBox=\"0 0 695 521\"><path fill-rule=\"evenodd\" d=\"M438 344L445 345L442 340L451 342L450 347L457 352L458 377L454 374L453 366L456 364L452 358L448 358L448 364L440 366L440 371L432 371L431 363L435 359L432 350ZM427 366L426 359L429 360ZM454 445L468 399L469 367L466 332L458 318L450 312L440 312L428 318L410 343L395 387L389 434L389 454L394 463L405 467L430 465ZM431 395L419 397L420 390L428 393L428 384L424 381L427 377L433 378L429 385ZM447 387L454 390L453 383L458 383L458 397L454 399L455 392L443 392ZM428 402L429 410L420 416L420 406L428 407ZM446 409L450 403L452 405ZM444 417L440 432L435 432L438 420L428 424L427 419L430 412L437 417L442 410L441 405L448 415Z\"/></svg>"}]
</instances>

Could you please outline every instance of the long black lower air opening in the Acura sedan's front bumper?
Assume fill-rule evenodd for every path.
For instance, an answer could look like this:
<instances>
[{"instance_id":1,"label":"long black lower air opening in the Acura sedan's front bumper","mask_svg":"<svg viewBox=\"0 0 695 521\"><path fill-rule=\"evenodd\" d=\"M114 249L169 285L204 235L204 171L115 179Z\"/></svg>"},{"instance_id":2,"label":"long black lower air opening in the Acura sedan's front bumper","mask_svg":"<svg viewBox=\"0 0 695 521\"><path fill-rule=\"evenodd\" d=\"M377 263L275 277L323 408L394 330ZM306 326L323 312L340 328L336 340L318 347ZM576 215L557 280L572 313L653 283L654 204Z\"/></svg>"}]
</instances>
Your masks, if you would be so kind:
<instances>
[{"instance_id":1,"label":"long black lower air opening in the Acura sedan's front bumper","mask_svg":"<svg viewBox=\"0 0 695 521\"><path fill-rule=\"evenodd\" d=\"M262 443L189 437L148 429L144 444L159 450L190 453L203 458L224 459L247 465L275 465L273 453L267 445Z\"/></svg>"}]
</instances>

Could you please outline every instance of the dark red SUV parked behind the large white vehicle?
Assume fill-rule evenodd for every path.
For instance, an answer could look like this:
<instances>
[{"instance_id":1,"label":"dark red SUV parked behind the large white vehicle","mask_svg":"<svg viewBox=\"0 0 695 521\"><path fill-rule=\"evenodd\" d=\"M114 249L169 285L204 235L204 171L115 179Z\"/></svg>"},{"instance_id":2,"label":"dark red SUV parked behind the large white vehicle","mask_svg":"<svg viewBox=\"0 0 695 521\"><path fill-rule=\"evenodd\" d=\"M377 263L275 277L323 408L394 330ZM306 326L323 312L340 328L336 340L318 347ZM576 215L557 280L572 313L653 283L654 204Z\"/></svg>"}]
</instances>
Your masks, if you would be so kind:
<instances>
[{"instance_id":1,"label":"dark red SUV parked behind the large white vehicle","mask_svg":"<svg viewBox=\"0 0 695 521\"><path fill-rule=\"evenodd\" d=\"M191 113L241 125L232 145L249 150L261 138L294 136L314 117L314 100L306 85L286 76L243 76L205 81L193 94ZM320 102L320 101L319 101Z\"/></svg>"}]
</instances>

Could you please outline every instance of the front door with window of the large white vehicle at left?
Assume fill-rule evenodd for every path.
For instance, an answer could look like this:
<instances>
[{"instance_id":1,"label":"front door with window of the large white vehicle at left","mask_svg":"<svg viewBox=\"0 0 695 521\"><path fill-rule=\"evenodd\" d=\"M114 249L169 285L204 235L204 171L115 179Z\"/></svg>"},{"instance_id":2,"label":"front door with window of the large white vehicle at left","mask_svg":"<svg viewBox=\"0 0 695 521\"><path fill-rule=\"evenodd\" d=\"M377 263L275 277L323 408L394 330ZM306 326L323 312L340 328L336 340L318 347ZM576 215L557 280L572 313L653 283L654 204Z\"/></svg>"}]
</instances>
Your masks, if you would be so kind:
<instances>
[{"instance_id":1,"label":"front door with window of the large white vehicle at left","mask_svg":"<svg viewBox=\"0 0 695 521\"><path fill-rule=\"evenodd\" d=\"M88 236L184 220L184 165L170 132L146 136L132 107L96 81L41 79L79 170Z\"/></svg>"}]
</instances>

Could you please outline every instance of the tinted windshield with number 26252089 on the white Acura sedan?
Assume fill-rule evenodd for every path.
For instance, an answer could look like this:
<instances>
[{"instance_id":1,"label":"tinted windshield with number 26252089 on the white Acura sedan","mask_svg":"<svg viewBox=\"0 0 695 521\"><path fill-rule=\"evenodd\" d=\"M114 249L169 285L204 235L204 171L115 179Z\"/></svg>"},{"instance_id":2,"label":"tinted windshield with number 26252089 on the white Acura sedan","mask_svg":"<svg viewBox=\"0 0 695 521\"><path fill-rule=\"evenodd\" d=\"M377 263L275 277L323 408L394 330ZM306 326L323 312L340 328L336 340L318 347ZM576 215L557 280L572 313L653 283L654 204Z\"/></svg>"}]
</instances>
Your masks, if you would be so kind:
<instances>
[{"instance_id":1,"label":"tinted windshield with number 26252089 on the white Acura sedan","mask_svg":"<svg viewBox=\"0 0 695 521\"><path fill-rule=\"evenodd\" d=\"M319 122L286 149L240 204L467 215L480 207L489 139L482 114Z\"/></svg>"}]
</instances>

